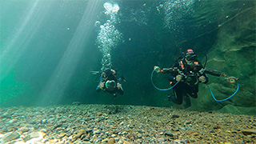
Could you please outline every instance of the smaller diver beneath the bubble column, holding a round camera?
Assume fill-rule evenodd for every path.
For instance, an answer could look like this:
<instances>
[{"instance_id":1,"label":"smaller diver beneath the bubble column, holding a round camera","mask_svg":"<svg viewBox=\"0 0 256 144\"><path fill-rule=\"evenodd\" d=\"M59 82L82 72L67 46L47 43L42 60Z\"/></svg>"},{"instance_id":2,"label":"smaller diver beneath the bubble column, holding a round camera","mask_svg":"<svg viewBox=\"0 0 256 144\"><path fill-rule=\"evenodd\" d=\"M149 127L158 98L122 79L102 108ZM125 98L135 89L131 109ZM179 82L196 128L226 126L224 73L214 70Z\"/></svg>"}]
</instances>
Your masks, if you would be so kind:
<instances>
[{"instance_id":1,"label":"smaller diver beneath the bubble column, holding a round camera","mask_svg":"<svg viewBox=\"0 0 256 144\"><path fill-rule=\"evenodd\" d=\"M117 94L123 95L124 91L122 89L122 81L126 82L126 79L122 76L121 78L118 78L115 70L104 70L100 77L100 82L96 88L96 91L100 92L101 90L104 90L107 93L114 94L114 98L117 96Z\"/></svg>"}]
</instances>

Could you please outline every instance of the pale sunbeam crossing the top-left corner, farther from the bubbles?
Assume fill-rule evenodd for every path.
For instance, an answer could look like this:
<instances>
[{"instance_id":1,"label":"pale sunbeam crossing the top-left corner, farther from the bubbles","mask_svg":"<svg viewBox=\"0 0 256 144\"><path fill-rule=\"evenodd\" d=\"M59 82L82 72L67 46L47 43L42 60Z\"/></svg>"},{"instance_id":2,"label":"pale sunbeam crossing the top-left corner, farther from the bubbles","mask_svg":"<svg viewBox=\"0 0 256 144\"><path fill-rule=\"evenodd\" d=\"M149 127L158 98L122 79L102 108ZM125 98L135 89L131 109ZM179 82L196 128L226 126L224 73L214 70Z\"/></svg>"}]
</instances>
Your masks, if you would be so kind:
<instances>
[{"instance_id":1,"label":"pale sunbeam crossing the top-left corner, farther from the bubbles","mask_svg":"<svg viewBox=\"0 0 256 144\"><path fill-rule=\"evenodd\" d=\"M24 20L18 26L17 32L11 37L10 42L3 46L4 48L0 55L0 79L5 78L14 64L18 62L18 59L30 44L31 38L37 32L38 25L45 15L45 13L42 13L42 6L40 6L39 2L40 0L36 0L31 4L29 12L22 17Z\"/></svg>"}]
</instances>

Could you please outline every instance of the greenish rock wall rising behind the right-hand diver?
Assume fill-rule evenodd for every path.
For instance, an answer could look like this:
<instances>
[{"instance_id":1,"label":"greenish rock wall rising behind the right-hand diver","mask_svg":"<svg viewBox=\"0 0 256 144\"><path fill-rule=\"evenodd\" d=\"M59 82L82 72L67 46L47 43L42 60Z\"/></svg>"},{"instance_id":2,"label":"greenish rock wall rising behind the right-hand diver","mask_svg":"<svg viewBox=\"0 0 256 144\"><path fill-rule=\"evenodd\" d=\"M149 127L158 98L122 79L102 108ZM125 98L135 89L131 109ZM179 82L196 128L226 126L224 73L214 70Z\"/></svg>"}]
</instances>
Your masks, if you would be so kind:
<instances>
[{"instance_id":1,"label":"greenish rock wall rising behind the right-hand diver","mask_svg":"<svg viewBox=\"0 0 256 144\"><path fill-rule=\"evenodd\" d=\"M215 102L206 85L201 85L199 98L192 109L218 110L234 114L256 114L255 99L255 8L237 14L218 28L218 38L209 51L207 68L219 70L238 79L240 90L225 102ZM209 76L208 83L217 99L233 94L236 84L225 78Z\"/></svg>"}]
</instances>

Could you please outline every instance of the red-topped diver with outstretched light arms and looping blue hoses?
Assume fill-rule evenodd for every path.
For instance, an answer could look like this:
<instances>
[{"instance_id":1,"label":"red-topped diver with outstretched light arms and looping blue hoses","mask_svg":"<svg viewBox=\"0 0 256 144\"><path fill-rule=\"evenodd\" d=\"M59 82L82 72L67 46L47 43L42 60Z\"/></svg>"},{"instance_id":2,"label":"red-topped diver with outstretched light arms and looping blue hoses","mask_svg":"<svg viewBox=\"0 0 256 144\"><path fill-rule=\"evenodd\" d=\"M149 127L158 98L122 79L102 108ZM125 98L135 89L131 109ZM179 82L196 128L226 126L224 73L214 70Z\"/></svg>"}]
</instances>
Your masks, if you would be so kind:
<instances>
[{"instance_id":1,"label":"red-topped diver with outstretched light arms and looping blue hoses","mask_svg":"<svg viewBox=\"0 0 256 144\"><path fill-rule=\"evenodd\" d=\"M207 55L206 62L207 62ZM204 66L202 66L201 62L198 61L197 54L194 53L193 50L186 50L186 53L183 53L181 57L179 57L169 68L160 68L159 66L154 66L154 70L151 74L151 82L154 88L157 90L173 90L174 94L168 95L169 101L182 105L183 98L184 102L186 102L185 107L191 106L190 97L198 98L198 85L199 83L204 83L208 86L210 90L210 94L214 98L216 102L224 102L230 98L232 98L235 94L238 93L239 84L238 78L233 76L227 76L218 70L211 70L206 68L206 62ZM170 88L161 89L154 85L153 82L153 74L163 73L169 74L168 80L170 81ZM210 74L217 77L224 77L227 82L236 83L237 90L234 94L230 95L228 98L217 99L214 97L213 91L210 89L210 86L207 85L208 77L206 74Z\"/></svg>"}]
</instances>

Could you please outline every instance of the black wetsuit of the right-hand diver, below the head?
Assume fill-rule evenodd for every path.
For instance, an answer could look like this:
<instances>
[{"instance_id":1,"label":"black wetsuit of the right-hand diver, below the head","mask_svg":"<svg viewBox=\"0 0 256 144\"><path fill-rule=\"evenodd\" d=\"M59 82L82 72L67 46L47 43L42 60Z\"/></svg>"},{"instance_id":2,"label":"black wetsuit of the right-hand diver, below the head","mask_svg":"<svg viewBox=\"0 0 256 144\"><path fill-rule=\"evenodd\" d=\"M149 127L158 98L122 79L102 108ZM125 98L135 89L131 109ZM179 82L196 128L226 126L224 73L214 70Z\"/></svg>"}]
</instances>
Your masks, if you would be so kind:
<instances>
[{"instance_id":1,"label":"black wetsuit of the right-hand diver, below the head","mask_svg":"<svg viewBox=\"0 0 256 144\"><path fill-rule=\"evenodd\" d=\"M198 85L199 85L199 77L204 76L206 78L206 82L208 82L208 77L205 73L203 73L202 68L203 66L199 62L194 62L194 66L188 65L184 59L179 59L177 62L171 66L171 70L173 70L168 79L174 85L176 81L176 76L182 75L182 81L180 81L176 86L173 88L174 95L170 96L171 100L181 105L183 102L183 96L186 98L188 102L187 105L191 106L190 97L198 98Z\"/></svg>"}]
</instances>

